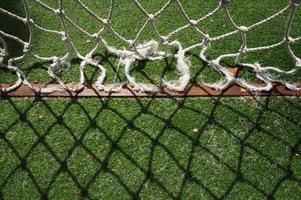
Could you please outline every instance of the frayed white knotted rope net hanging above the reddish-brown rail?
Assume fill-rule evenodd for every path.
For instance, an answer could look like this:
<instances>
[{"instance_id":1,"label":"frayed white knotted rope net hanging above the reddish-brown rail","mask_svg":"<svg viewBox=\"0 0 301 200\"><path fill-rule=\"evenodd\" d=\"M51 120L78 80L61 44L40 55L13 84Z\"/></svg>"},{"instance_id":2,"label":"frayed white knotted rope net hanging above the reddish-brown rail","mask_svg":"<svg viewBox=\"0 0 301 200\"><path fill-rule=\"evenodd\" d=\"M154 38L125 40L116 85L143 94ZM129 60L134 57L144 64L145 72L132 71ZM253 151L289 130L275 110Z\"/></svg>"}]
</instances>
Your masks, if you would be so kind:
<instances>
[{"instance_id":1,"label":"frayed white knotted rope net hanging above the reddish-brown rail","mask_svg":"<svg viewBox=\"0 0 301 200\"><path fill-rule=\"evenodd\" d=\"M64 0L59 0L59 7L54 8L48 5L45 2L42 2L41 0L33 0L37 4L39 4L43 9L52 12L55 14L61 21L61 30L52 30L43 27L41 24L37 24L32 18L31 18L31 10L29 9L29 3L28 0L23 0L24 10L25 10L25 17L18 16L10 11L7 11L3 8L0 8L0 12L2 14L7 15L8 17L15 18L17 20L22 21L29 30L29 38L28 41L24 41L20 39L17 36L14 36L12 34L9 34L5 32L4 30L0 30L0 66L1 68L6 68L12 72L14 72L18 80L12 84L8 88L1 88L2 92L9 92L17 87L19 87L21 84L27 85L30 89L32 89L35 92L38 93L51 93L56 91L63 91L68 90L71 92L77 92L82 90L85 87L85 76L84 71L86 66L90 65L93 67L96 67L100 70L100 75L95 82L95 85L97 89L99 90L105 90L107 92L118 92L122 86L125 84L123 83L116 83L113 86L106 86L104 84L105 77L106 77L106 68L99 62L95 61L93 59L93 56L95 55L95 52L98 49L106 49L110 54L117 56L119 58L119 65L124 67L124 72L126 75L127 83L133 87L134 90L143 91L143 92L156 92L158 91L157 86L149 86L147 84L139 83L136 81L134 77L130 75L130 72L133 68L133 64L137 61L141 60L149 60L149 61L155 61L155 60L163 60L168 57L174 57L176 59L176 70L179 74L178 80L162 80L162 85L170 90L174 91L184 91L186 86L189 84L191 79L191 64L187 58L187 53L200 48L199 51L199 58L206 62L209 67L217 71L222 75L222 80L216 82L216 83L204 83L205 85L212 87L216 90L224 90L227 87L229 87L231 84L238 84L241 87L246 88L250 91L269 91L273 87L273 83L280 83L285 85L290 90L300 90L301 88L298 87L295 83L290 83L288 81L278 80L272 77L271 72L276 73L282 73L282 74L294 74L298 70L301 69L301 59L296 55L296 53L293 51L292 45L295 43L298 43L301 41L300 37L292 38L290 36L291 33L291 27L294 23L294 15L296 13L296 9L298 5L300 4L301 0L289 0L288 5L284 7L283 9L279 10L278 12L274 13L273 15L262 19L250 26L240 26L238 25L233 17L231 16L229 12L230 7L230 0L221 0L215 9L213 9L211 12L207 13L206 15L198 18L198 19L192 19L188 15L188 13L185 11L182 3L180 0L167 0L167 2L155 13L151 14L149 13L140 3L138 0L132 0L137 9L143 13L145 16L145 23L141 27L141 29L138 31L137 35L132 39L127 39L124 36L122 36L116 29L114 29L113 25L111 24L112 21L112 13L115 7L115 0L110 0L110 8L109 8L109 14L107 18L102 18L98 16L95 12L93 12L87 5L85 5L81 0L73 0L75 1L81 9L88 13L91 17L95 18L97 21L100 22L101 26L99 31L95 33L90 33L84 28L82 28L80 25L78 25L75 21L73 21L70 17L68 17L65 14L64 11ZM181 14L185 17L185 20L187 22L186 25L181 26L174 31L170 32L167 35L162 35L160 31L158 30L156 26L156 19L164 13L164 11L171 5L176 4L181 12ZM219 35L215 37L211 37L209 34L204 33L199 26L205 21L208 20L210 17L214 16L218 11L224 10L225 17L228 18L229 22L233 26L233 30ZM260 27L269 21L284 15L285 13L289 13L289 17L286 23L285 32L283 33L284 37L283 40L270 44L267 46L259 46L259 47L252 47L249 48L247 46L248 40L247 40L247 34L252 31L256 27ZM86 36L92 38L93 40L96 40L96 44L94 48L90 50L90 52L86 55L83 55L76 45L74 44L74 41L70 37L67 25L73 26L75 29L77 29L82 34L85 34ZM144 31L147 25L151 25L151 27L154 29L154 32L158 36L158 38L152 39L150 41L146 41L145 43L139 44L138 39L141 36L141 33ZM172 36L177 34L178 32L185 31L187 28L193 28L201 37L200 41L198 43L195 43L189 47L183 47L181 42L178 40L171 40ZM49 34L54 34L62 39L62 42L64 42L66 46L66 53L64 56L51 56L51 57L44 57L41 55L37 55L35 52L32 51L32 45L33 45L33 37L35 30L39 29L39 31L47 32ZM109 44L107 39L102 35L102 33L105 30L109 30L111 34L115 35L118 39L120 39L123 42L126 42L128 44L128 48L117 48ZM212 48L211 44L215 41L224 40L230 36L233 36L235 34L241 34L242 35L242 44L241 48L235 52L230 54L223 54L220 55L214 59L209 59L207 56L207 52ZM19 57L14 58L8 58L8 45L6 43L6 39L14 40L18 43L20 43L23 46L23 55ZM165 47L173 47L177 49L177 53L171 54L168 53L164 48L161 49L161 45ZM260 51L267 51L270 49L277 48L281 45L285 45L288 49L289 55L291 59L294 60L295 66L292 67L291 70L285 71L282 70L279 67L272 67L272 66L261 66L259 63L244 63L242 62L245 55L251 52L260 52ZM41 60L50 62L50 66L48 67L48 74L53 79L55 79L59 86L56 87L47 87L47 88L39 88L36 85L32 84L28 79L24 71L22 71L16 63L18 61L23 60L27 55L31 54L31 56L34 56L35 58ZM78 59L80 59L80 81L77 84L68 84L65 83L59 76L59 71L64 68L65 66L69 66L69 59L70 55L76 55ZM226 67L224 67L221 62L224 59L227 58L234 58L235 62L239 66L243 66L246 68L250 68L255 74L258 79L266 83L264 87L256 87L253 84L248 83L246 80L244 80L241 77L236 77L232 73L228 71Z\"/></svg>"}]
</instances>

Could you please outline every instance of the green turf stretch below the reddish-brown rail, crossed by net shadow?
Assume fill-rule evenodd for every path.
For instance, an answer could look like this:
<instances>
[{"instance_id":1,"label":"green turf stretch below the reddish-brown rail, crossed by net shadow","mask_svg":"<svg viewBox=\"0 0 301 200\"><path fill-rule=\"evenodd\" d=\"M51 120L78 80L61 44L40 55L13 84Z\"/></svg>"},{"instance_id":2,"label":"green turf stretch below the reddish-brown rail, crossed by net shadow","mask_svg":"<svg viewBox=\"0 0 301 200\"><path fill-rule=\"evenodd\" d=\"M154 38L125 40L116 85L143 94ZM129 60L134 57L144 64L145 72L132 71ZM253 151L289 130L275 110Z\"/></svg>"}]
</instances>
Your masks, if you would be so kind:
<instances>
[{"instance_id":1,"label":"green turf stretch below the reddish-brown rail, crossed by net shadow","mask_svg":"<svg viewBox=\"0 0 301 200\"><path fill-rule=\"evenodd\" d=\"M298 199L298 99L7 99L0 199Z\"/></svg>"}]
</instances>

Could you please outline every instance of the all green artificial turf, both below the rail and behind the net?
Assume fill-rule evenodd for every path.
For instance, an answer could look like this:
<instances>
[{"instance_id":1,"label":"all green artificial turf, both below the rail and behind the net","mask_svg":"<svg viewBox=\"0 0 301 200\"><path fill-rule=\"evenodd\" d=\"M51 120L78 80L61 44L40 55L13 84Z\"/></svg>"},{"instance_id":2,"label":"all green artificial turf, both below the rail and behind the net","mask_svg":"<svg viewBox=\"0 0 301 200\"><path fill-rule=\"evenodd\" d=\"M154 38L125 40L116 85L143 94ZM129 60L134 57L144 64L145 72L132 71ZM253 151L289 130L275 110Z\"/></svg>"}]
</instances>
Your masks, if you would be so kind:
<instances>
[{"instance_id":1,"label":"all green artificial turf, both below the rail and behind the net","mask_svg":"<svg viewBox=\"0 0 301 200\"><path fill-rule=\"evenodd\" d=\"M59 20L34 1L32 18L47 28L60 30ZM57 0L44 0L57 7ZM105 17L109 1L85 0ZM165 0L140 0L155 12ZM217 0L182 0L192 18L203 16ZM289 1L235 0L231 13L240 25L250 25L280 10ZM24 16L22 2L1 0L0 7ZM85 29L94 32L99 24L65 0L66 13ZM301 12L297 10L292 36L300 36ZM185 23L176 6L159 17L157 26L166 34ZM287 14L248 34L249 47L280 41ZM3 20L4 19L4 20ZM116 1L113 26L133 37L143 16L130 0ZM135 22L135 23L133 23ZM219 12L202 24L211 36L232 30ZM94 44L68 26L72 40L82 53ZM21 23L0 14L0 30L26 40ZM104 34L110 44L125 46ZM139 42L154 37L149 28ZM201 38L188 29L175 36L185 45ZM22 49L8 41L12 56ZM213 44L210 57L236 52L240 35ZM297 55L301 45L293 46ZM33 51L43 56L63 55L60 38L36 32ZM199 49L190 52L192 82L219 80L220 76L198 59ZM97 52L113 82L118 58L101 48ZM79 60L61 76L78 81ZM250 54L246 61L294 66L285 47ZM226 60L225 66L233 65ZM30 81L53 82L49 63L28 56L17 66ZM133 76L143 82L158 82L162 76L176 78L173 59L135 64ZM244 77L254 75L243 71ZM86 70L89 82L98 71ZM124 79L119 70L119 80ZM16 77L0 69L0 83ZM300 81L300 73L283 79ZM0 100L0 199L299 199L301 196L301 101L266 97L251 99L2 99ZM195 131L197 130L197 131Z\"/></svg>"}]
</instances>

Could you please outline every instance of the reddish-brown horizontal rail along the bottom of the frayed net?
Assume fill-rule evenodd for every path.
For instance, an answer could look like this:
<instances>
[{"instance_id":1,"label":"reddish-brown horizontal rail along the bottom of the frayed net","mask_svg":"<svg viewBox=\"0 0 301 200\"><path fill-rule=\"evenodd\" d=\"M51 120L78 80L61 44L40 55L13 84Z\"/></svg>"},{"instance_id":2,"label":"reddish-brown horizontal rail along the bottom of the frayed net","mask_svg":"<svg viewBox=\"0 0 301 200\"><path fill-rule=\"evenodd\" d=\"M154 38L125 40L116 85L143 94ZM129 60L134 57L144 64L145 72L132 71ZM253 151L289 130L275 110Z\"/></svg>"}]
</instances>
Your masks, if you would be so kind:
<instances>
[{"instance_id":1,"label":"reddish-brown horizontal rail along the bottom of the frayed net","mask_svg":"<svg viewBox=\"0 0 301 200\"><path fill-rule=\"evenodd\" d=\"M261 86L263 83L257 83L256 85ZM299 83L301 85L301 83ZM0 84L0 88L7 87L7 84ZM41 85L36 84L36 86L43 87L52 87L53 84ZM116 93L107 93L104 91L98 91L94 85L86 85L86 87L77 93L62 91L62 92L54 92L50 94L38 94L30 90L27 86L21 85L15 91L9 93L2 93L2 98L7 97L126 97L126 98L134 98L134 97L153 97L153 98L166 98L166 97L253 97L253 96L295 96L300 97L301 91L290 91L283 85L274 85L274 88L269 92L248 92L245 89L233 85L229 87L225 91L216 91L207 86L201 84L189 85L185 92L174 92L170 90L166 90L164 88L161 89L158 93L143 93L137 92L131 89L129 86L125 86L119 92Z\"/></svg>"}]
</instances>

